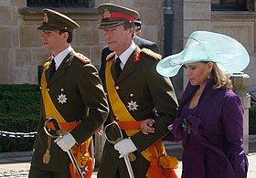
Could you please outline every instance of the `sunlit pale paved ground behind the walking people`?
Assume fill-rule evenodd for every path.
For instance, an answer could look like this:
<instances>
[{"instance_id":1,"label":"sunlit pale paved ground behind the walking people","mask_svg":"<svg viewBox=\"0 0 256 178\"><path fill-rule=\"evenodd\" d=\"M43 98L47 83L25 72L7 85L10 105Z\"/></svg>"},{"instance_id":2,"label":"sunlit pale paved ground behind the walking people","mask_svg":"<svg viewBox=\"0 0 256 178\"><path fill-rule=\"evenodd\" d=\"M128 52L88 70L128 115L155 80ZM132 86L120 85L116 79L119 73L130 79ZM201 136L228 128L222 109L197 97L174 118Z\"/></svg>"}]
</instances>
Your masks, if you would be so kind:
<instances>
[{"instance_id":1,"label":"sunlit pale paved ground behind the walking people","mask_svg":"<svg viewBox=\"0 0 256 178\"><path fill-rule=\"evenodd\" d=\"M256 177L256 135L250 137L249 141L249 172L248 178ZM181 158L181 145L176 144L167 147L167 152L172 152L177 158ZM30 167L32 152L5 152L0 153L0 178L27 178ZM180 177L182 162L176 169L176 173ZM92 178L97 177L97 169L92 174Z\"/></svg>"}]
</instances>

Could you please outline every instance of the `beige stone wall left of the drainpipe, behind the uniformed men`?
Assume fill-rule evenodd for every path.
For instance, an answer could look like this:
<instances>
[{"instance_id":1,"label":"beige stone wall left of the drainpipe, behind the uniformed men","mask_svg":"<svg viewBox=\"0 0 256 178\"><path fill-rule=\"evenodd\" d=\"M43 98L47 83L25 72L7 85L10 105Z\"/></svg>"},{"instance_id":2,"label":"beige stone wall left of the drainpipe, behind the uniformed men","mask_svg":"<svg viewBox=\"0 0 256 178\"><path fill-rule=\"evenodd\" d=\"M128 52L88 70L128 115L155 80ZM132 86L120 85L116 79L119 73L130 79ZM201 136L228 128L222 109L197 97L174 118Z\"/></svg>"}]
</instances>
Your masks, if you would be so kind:
<instances>
[{"instance_id":1,"label":"beige stone wall left of the drainpipe, behind the uniformed men","mask_svg":"<svg viewBox=\"0 0 256 178\"><path fill-rule=\"evenodd\" d=\"M143 19L142 37L155 41L163 50L163 2L147 0L93 0L91 8L53 8L80 24L74 31L72 47L91 58L100 68L101 48L105 46L101 30L98 28L100 16L95 7L101 3L114 3L138 10ZM0 83L37 83L37 68L42 66L50 53L40 40L36 28L43 20L43 8L27 7L27 0L0 1ZM4 17L3 17L4 16Z\"/></svg>"}]
</instances>

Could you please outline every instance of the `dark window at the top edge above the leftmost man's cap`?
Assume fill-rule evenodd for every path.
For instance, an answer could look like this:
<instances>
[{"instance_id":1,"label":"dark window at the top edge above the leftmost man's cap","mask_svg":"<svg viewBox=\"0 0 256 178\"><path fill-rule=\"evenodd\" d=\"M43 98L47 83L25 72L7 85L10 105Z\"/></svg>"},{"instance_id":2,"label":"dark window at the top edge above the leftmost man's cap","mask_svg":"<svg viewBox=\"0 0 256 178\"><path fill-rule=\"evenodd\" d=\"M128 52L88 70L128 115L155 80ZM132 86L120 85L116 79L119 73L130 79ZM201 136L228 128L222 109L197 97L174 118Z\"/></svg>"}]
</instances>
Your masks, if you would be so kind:
<instances>
[{"instance_id":1,"label":"dark window at the top edge above the leftmost man's cap","mask_svg":"<svg viewBox=\"0 0 256 178\"><path fill-rule=\"evenodd\" d=\"M27 0L29 7L89 7L90 0Z\"/></svg>"}]
</instances>

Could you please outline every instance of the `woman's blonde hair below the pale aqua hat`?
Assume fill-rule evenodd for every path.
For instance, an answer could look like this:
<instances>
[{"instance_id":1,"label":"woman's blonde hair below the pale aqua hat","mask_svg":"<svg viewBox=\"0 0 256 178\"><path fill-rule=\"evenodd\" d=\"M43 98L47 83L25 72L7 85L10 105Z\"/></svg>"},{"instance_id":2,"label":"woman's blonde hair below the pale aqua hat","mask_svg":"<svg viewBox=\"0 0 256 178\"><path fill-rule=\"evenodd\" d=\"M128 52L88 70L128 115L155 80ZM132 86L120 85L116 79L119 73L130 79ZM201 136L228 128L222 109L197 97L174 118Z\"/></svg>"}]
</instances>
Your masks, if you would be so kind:
<instances>
[{"instance_id":1,"label":"woman's blonde hair below the pale aqua hat","mask_svg":"<svg viewBox=\"0 0 256 178\"><path fill-rule=\"evenodd\" d=\"M232 89L232 81L229 79L229 74L221 70L216 63L213 63L211 70L212 78L215 81L213 89Z\"/></svg>"}]
</instances>

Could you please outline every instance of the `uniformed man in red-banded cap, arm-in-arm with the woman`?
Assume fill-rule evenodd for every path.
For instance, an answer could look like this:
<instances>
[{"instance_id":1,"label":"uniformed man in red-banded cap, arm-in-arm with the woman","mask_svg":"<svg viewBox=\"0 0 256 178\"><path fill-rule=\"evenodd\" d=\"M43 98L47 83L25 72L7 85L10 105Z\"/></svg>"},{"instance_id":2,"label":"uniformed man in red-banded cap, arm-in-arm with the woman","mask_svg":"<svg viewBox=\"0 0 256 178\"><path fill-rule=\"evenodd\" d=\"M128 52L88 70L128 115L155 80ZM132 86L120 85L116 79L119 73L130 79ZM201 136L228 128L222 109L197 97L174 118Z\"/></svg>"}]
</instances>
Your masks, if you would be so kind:
<instances>
[{"instance_id":1,"label":"uniformed man in red-banded cap, arm-in-arm with the woman","mask_svg":"<svg viewBox=\"0 0 256 178\"><path fill-rule=\"evenodd\" d=\"M98 177L129 177L123 157L131 152L136 157L131 162L134 177L145 177L151 168L151 158L157 157L149 148L154 149L156 142L161 143L168 132L167 126L175 119L176 94L170 79L156 72L161 56L133 42L134 20L139 14L112 4L99 5L98 12L100 29L108 47L114 51L107 58L105 70L110 114L112 120L118 122L124 138L114 145L105 142ZM140 131L140 124L142 120L153 118L155 112L158 115L155 131L145 135Z\"/></svg>"}]
</instances>

